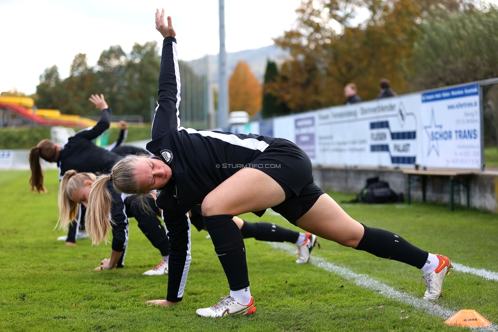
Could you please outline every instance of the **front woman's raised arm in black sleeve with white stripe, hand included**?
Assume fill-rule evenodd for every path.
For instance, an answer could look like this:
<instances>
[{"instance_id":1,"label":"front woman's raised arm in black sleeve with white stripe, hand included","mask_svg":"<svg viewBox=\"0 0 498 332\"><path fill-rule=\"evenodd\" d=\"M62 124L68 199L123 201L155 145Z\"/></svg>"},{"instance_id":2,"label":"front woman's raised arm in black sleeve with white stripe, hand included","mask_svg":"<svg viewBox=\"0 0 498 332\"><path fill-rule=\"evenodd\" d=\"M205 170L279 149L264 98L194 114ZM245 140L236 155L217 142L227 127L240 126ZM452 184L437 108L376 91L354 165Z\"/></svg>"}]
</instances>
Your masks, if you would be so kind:
<instances>
[{"instance_id":1,"label":"front woman's raised arm in black sleeve with white stripe, hand included","mask_svg":"<svg viewBox=\"0 0 498 332\"><path fill-rule=\"evenodd\" d=\"M178 107L180 105L180 69L177 57L175 30L168 16L164 21L164 9L156 11L156 29L164 37L159 72L159 99L152 123L151 137L155 139L172 129L180 127Z\"/></svg>"}]
</instances>

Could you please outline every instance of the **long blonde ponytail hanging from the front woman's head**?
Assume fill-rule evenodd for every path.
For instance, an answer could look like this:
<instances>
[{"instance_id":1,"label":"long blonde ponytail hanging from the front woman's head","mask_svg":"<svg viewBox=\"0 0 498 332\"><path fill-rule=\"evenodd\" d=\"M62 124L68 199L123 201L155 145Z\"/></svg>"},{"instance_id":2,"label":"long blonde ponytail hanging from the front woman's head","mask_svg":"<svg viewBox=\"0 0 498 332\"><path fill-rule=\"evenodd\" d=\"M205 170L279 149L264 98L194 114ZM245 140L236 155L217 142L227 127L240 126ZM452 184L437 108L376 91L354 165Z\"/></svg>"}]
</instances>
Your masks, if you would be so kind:
<instances>
[{"instance_id":1,"label":"long blonde ponytail hanging from the front woman's head","mask_svg":"<svg viewBox=\"0 0 498 332\"><path fill-rule=\"evenodd\" d=\"M109 180L111 180L110 175L97 177L88 197L85 228L92 239L92 244L99 244L104 240L107 242L107 233L111 229L112 198L107 190Z\"/></svg>"}]
</instances>

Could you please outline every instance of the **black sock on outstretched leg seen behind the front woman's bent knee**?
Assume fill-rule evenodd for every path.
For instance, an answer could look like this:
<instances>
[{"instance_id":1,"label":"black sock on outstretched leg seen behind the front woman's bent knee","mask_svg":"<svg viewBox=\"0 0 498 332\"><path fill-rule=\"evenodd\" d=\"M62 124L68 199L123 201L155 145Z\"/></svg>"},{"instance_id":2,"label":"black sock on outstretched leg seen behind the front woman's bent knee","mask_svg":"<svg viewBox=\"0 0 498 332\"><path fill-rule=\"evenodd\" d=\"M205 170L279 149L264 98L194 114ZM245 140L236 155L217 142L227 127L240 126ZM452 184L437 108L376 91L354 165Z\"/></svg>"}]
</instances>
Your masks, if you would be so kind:
<instances>
[{"instance_id":1,"label":"black sock on outstretched leg seen behind the front woman's bent knee","mask_svg":"<svg viewBox=\"0 0 498 332\"><path fill-rule=\"evenodd\" d=\"M270 223L250 223L244 220L240 229L244 239L255 238L258 241L296 243L299 232Z\"/></svg>"}]
</instances>

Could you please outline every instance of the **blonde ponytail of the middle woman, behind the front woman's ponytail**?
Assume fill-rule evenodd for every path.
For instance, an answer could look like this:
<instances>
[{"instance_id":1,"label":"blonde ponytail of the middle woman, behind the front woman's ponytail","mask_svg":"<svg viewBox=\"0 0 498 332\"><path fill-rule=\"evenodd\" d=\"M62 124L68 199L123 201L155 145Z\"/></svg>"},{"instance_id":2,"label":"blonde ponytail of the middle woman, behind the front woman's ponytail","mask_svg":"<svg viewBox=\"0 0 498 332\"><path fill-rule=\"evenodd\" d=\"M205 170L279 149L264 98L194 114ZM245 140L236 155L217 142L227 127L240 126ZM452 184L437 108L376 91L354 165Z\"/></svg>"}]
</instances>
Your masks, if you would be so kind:
<instances>
[{"instance_id":1,"label":"blonde ponytail of the middle woman, behind the front woman's ponytail","mask_svg":"<svg viewBox=\"0 0 498 332\"><path fill-rule=\"evenodd\" d=\"M66 228L71 221L76 219L78 203L74 202L71 197L75 191L85 186L88 180L95 181L95 174L78 173L75 170L64 173L59 187L59 220L57 223L60 228Z\"/></svg>"}]
</instances>

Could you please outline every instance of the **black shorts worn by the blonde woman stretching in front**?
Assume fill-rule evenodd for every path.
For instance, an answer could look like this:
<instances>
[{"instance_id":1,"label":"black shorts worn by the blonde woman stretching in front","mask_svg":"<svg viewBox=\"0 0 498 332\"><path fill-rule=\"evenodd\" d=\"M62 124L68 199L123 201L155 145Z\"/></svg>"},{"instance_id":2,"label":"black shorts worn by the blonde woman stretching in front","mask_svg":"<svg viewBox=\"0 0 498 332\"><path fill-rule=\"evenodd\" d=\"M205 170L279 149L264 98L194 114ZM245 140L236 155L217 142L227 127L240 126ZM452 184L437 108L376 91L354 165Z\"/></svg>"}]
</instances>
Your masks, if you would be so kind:
<instances>
[{"instance_id":1,"label":"black shorts worn by the blonde woman stretching in front","mask_svg":"<svg viewBox=\"0 0 498 332\"><path fill-rule=\"evenodd\" d=\"M287 139L276 138L250 166L268 174L284 189L285 201L272 209L294 225L325 194L313 182L313 168L306 152ZM264 211L255 214L261 217L261 212Z\"/></svg>"}]
</instances>

